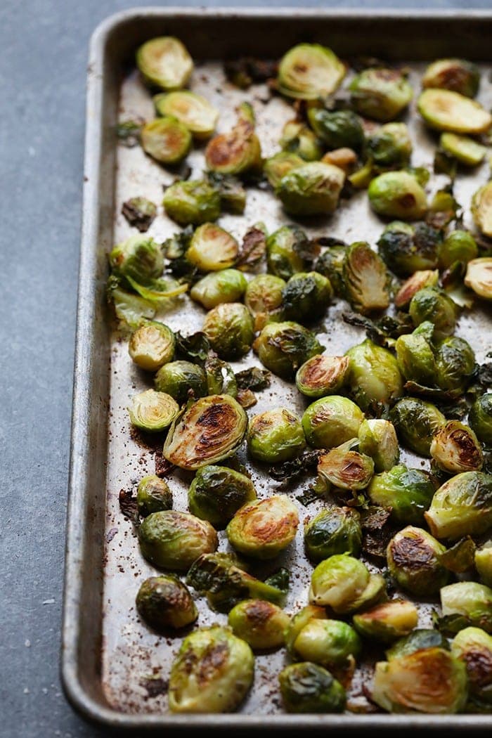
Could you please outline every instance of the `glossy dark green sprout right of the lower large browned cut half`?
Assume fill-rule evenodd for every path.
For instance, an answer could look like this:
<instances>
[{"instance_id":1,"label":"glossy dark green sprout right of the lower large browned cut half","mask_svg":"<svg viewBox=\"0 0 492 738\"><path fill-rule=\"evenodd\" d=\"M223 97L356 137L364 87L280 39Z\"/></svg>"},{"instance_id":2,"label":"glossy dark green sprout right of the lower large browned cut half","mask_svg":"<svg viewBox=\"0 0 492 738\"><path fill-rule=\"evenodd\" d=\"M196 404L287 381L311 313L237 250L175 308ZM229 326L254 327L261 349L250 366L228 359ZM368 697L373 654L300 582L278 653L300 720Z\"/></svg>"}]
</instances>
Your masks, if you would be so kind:
<instances>
[{"instance_id":1,"label":"glossy dark green sprout right of the lower large browned cut half","mask_svg":"<svg viewBox=\"0 0 492 738\"><path fill-rule=\"evenodd\" d=\"M305 525L304 545L306 554L314 562L336 554L358 556L362 545L358 511L349 507L322 510Z\"/></svg>"}]
</instances>

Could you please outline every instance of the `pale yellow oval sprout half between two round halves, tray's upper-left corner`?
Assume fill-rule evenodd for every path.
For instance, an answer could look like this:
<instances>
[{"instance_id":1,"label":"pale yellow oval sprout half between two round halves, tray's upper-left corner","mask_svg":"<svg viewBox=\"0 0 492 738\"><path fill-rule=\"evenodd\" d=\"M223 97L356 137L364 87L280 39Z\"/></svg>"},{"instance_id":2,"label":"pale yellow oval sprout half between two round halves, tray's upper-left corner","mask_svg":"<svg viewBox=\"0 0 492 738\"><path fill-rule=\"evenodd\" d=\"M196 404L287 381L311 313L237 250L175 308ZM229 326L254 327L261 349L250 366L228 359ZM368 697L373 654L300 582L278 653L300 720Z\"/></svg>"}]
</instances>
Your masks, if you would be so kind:
<instances>
[{"instance_id":1,"label":"pale yellow oval sprout half between two round halves, tray's upper-left corner","mask_svg":"<svg viewBox=\"0 0 492 738\"><path fill-rule=\"evenodd\" d=\"M188 90L160 93L153 96L153 104L158 115L176 118L195 138L212 136L218 110L203 95Z\"/></svg>"}]
</instances>

